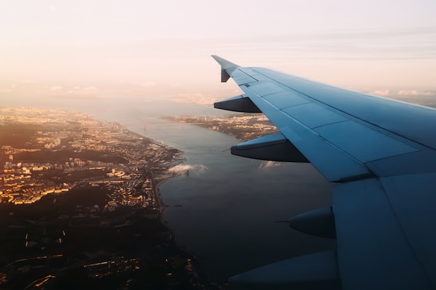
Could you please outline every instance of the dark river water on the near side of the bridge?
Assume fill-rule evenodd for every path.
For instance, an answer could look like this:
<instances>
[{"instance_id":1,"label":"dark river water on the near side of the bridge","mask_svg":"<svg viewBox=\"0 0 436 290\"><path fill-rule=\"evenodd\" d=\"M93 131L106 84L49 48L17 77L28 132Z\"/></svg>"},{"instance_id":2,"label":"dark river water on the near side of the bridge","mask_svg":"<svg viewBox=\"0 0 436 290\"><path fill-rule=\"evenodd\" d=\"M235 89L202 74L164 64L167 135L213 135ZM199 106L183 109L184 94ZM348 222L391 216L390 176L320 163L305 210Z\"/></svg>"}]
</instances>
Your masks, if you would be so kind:
<instances>
[{"instance_id":1,"label":"dark river water on the near side of the bridge","mask_svg":"<svg viewBox=\"0 0 436 290\"><path fill-rule=\"evenodd\" d=\"M329 184L310 164L232 156L223 150L238 140L194 126L178 134L176 147L191 168L161 186L166 204L182 205L166 209L164 218L208 273L222 280L312 246L332 246L274 223L329 204Z\"/></svg>"}]
</instances>

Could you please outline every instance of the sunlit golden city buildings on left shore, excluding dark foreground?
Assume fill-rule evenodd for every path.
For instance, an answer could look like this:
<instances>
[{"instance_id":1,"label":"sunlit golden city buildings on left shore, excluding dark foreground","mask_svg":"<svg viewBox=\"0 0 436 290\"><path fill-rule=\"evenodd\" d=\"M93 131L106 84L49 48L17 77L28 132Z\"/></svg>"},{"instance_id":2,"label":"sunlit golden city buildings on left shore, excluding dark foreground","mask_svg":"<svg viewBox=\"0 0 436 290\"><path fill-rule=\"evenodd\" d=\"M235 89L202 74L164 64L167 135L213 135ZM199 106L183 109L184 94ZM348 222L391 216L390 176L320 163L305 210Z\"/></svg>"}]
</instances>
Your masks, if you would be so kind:
<instances>
[{"instance_id":1,"label":"sunlit golden city buildings on left shore, excluding dark foreground","mask_svg":"<svg viewBox=\"0 0 436 290\"><path fill-rule=\"evenodd\" d=\"M35 109L1 110L3 127L17 124L45 127L45 131L42 128L35 131L24 147L2 145L3 156L7 157L2 162L2 201L29 204L50 193L105 184L116 193L111 195L113 202L156 206L151 179L141 180L143 171L155 168L161 172L173 161L182 160L182 152L157 145L120 124L99 122L81 113L49 113L47 118L45 111ZM17 138L20 134L17 131L10 138L2 138L3 143Z\"/></svg>"}]
</instances>

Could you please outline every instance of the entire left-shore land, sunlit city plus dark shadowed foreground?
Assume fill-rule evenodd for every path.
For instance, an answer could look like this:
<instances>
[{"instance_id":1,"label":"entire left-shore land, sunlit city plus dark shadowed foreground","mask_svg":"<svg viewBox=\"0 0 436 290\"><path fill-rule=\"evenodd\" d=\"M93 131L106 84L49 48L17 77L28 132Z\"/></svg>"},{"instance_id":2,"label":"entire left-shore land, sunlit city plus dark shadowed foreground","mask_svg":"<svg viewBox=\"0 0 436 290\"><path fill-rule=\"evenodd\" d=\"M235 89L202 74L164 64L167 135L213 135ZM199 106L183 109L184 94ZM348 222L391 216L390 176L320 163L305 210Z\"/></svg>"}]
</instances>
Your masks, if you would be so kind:
<instances>
[{"instance_id":1,"label":"entire left-shore land, sunlit city plus dark shadowed foreground","mask_svg":"<svg viewBox=\"0 0 436 290\"><path fill-rule=\"evenodd\" d=\"M162 222L182 152L86 114L0 108L1 289L221 289Z\"/></svg>"}]
</instances>

